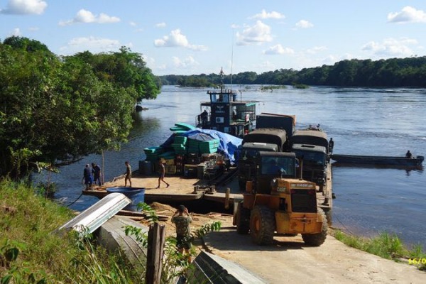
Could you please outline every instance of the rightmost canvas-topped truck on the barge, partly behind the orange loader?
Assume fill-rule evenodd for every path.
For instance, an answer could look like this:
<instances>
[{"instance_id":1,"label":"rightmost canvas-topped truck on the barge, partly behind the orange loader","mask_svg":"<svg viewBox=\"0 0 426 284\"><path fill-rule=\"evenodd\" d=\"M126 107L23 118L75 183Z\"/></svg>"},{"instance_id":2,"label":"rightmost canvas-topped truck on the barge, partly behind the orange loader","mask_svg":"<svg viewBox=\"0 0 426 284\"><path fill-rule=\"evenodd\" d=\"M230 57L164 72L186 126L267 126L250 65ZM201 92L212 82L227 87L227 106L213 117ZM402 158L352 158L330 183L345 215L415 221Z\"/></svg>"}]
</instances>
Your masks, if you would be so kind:
<instances>
[{"instance_id":1,"label":"rightmost canvas-topped truck on the barge, partly behind the orange loader","mask_svg":"<svg viewBox=\"0 0 426 284\"><path fill-rule=\"evenodd\" d=\"M329 141L321 130L296 130L290 138L291 151L302 160L302 178L315 182L320 192L327 184Z\"/></svg>"}]
</instances>

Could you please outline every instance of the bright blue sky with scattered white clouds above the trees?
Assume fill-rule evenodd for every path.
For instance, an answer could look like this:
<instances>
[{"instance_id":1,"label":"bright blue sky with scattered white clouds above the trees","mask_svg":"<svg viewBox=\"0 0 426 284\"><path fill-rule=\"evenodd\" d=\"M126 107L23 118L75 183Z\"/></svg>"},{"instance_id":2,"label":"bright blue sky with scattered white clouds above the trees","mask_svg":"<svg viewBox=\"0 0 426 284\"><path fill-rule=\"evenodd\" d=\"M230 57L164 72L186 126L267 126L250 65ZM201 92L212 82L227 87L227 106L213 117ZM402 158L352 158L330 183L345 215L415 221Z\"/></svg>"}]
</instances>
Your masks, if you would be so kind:
<instances>
[{"instance_id":1,"label":"bright blue sky with scattered white clouds above the trees","mask_svg":"<svg viewBox=\"0 0 426 284\"><path fill-rule=\"evenodd\" d=\"M154 75L332 65L426 53L426 1L0 0L0 39L58 55L141 53Z\"/></svg>"}]
</instances>

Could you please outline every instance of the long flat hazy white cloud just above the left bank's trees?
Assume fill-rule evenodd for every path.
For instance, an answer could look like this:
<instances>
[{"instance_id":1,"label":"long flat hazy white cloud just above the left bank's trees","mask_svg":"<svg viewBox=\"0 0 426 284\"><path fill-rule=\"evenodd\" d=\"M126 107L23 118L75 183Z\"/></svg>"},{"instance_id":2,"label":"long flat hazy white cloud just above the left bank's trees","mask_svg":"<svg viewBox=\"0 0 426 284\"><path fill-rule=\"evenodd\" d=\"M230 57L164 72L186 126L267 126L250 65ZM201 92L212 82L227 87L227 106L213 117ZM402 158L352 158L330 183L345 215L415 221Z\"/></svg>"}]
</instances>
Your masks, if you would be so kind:
<instances>
[{"instance_id":1,"label":"long flat hazy white cloud just above the left bank's trees","mask_svg":"<svg viewBox=\"0 0 426 284\"><path fill-rule=\"evenodd\" d=\"M89 50L91 53L100 53L119 50L121 46L122 44L119 40L89 36L87 38L72 38L67 43L67 46L60 48L60 50L66 54L74 54L84 50ZM131 47L131 44L126 46Z\"/></svg>"}]
</instances>

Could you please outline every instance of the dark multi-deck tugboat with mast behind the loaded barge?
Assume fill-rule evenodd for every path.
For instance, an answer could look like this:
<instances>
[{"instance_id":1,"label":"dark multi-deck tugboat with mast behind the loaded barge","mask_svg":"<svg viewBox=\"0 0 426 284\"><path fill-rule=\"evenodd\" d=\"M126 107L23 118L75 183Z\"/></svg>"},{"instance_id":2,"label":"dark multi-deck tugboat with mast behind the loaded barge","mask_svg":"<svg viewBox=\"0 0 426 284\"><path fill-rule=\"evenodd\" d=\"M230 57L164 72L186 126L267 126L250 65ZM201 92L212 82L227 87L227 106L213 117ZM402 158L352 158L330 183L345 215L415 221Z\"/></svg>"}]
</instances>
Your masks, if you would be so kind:
<instances>
[{"instance_id":1,"label":"dark multi-deck tugboat with mast behind the loaded barge","mask_svg":"<svg viewBox=\"0 0 426 284\"><path fill-rule=\"evenodd\" d=\"M256 101L238 100L238 93L224 88L224 72L221 69L220 90L207 91L209 102L201 102L201 114L196 125L201 129L213 129L242 137L256 128Z\"/></svg>"}]
</instances>

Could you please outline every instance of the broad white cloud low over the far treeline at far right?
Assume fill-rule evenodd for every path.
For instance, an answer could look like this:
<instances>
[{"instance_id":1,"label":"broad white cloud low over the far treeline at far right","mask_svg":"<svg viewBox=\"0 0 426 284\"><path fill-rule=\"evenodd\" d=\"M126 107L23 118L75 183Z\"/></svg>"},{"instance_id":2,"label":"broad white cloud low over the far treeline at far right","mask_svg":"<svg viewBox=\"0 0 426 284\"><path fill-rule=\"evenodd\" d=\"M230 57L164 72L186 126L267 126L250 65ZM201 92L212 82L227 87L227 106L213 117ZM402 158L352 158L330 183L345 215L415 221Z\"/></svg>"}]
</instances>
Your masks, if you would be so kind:
<instances>
[{"instance_id":1,"label":"broad white cloud low over the far treeline at far right","mask_svg":"<svg viewBox=\"0 0 426 284\"><path fill-rule=\"evenodd\" d=\"M371 41L366 43L361 50L371 51L378 57L407 57L413 55L413 50L408 45L417 45L417 40L410 38L387 38L383 43Z\"/></svg>"}]
</instances>

